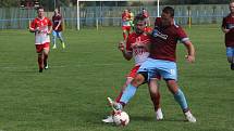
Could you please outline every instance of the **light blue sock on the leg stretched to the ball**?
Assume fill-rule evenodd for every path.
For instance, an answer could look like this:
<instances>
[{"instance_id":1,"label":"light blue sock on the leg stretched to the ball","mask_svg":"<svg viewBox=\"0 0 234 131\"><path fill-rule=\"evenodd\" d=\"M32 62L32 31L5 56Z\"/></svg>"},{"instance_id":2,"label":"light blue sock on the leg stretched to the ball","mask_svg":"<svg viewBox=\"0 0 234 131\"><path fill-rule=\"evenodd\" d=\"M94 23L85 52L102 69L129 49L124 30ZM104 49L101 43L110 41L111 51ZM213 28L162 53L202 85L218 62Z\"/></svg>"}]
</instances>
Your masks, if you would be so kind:
<instances>
[{"instance_id":1,"label":"light blue sock on the leg stretched to the ball","mask_svg":"<svg viewBox=\"0 0 234 131\"><path fill-rule=\"evenodd\" d=\"M123 91L123 95L120 99L120 102L123 102L124 104L127 104L130 100L134 96L136 93L137 88L133 87L132 84L128 84L126 89Z\"/></svg>"}]
</instances>

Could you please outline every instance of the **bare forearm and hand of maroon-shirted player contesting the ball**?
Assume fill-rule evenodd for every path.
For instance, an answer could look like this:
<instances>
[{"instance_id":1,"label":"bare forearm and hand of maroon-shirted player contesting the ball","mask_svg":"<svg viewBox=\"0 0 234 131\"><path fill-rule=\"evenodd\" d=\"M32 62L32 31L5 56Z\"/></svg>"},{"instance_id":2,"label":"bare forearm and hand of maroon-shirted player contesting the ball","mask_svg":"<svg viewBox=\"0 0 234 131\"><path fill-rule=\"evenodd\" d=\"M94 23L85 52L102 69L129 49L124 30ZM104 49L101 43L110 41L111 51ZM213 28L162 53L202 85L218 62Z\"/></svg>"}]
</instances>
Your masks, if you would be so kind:
<instances>
[{"instance_id":1,"label":"bare forearm and hand of maroon-shirted player contesting the ball","mask_svg":"<svg viewBox=\"0 0 234 131\"><path fill-rule=\"evenodd\" d=\"M185 48L187 49L187 55L185 55L185 58L189 62L189 63L194 63L195 62L195 48L194 44L190 42L190 40L185 40L183 41Z\"/></svg>"}]
</instances>

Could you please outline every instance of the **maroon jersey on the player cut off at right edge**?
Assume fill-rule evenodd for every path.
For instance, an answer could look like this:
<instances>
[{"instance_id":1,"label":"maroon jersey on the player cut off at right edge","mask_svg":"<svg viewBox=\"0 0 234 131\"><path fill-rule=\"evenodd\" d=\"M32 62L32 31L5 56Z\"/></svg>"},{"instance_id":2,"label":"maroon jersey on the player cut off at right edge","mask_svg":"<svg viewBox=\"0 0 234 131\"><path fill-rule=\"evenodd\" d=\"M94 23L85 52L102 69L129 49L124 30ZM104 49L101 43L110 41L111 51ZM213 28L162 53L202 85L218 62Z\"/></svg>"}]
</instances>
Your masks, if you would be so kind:
<instances>
[{"instance_id":1,"label":"maroon jersey on the player cut off at right edge","mask_svg":"<svg viewBox=\"0 0 234 131\"><path fill-rule=\"evenodd\" d=\"M225 34L225 45L234 47L234 16L231 14L223 18L222 27L230 29L227 34Z\"/></svg>"}]
</instances>

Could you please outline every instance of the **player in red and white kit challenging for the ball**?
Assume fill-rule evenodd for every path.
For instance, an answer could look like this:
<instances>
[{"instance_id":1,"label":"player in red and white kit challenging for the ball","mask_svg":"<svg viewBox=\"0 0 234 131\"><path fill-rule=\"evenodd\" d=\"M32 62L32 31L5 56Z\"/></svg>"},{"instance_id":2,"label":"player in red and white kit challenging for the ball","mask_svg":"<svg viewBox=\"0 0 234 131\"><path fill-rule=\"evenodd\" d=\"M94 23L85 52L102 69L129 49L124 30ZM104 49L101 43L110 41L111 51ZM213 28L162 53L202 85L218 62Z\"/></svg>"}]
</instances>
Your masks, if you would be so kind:
<instances>
[{"instance_id":1,"label":"player in red and white kit challenging for the ball","mask_svg":"<svg viewBox=\"0 0 234 131\"><path fill-rule=\"evenodd\" d=\"M131 73L126 77L126 82L123 86L121 93L115 99L115 102L120 102L122 94L127 84L134 79L137 74L137 70L141 63L146 61L149 55L148 45L150 42L150 37L145 32L146 21L143 15L137 15L135 17L135 31L130 35L126 41L126 47L124 47L124 42L120 42L119 50L122 52L123 57L127 61L134 58L135 66L132 68ZM156 119L163 119L163 114L160 107L160 94L157 87L157 81L160 79L160 76L153 76L148 82L150 97L155 106ZM102 120L103 122L113 122L112 116L108 116L107 119Z\"/></svg>"}]
</instances>

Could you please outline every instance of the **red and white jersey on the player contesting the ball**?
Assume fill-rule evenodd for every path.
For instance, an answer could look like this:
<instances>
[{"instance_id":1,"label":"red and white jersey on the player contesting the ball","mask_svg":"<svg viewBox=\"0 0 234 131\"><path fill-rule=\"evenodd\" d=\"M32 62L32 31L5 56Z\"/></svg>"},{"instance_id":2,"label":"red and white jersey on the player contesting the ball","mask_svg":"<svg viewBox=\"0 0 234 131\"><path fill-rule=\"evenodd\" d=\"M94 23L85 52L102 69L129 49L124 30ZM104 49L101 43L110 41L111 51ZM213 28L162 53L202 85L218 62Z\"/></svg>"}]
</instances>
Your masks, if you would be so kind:
<instances>
[{"instance_id":1,"label":"red and white jersey on the player contesting the ball","mask_svg":"<svg viewBox=\"0 0 234 131\"><path fill-rule=\"evenodd\" d=\"M132 32L126 41L126 51L133 53L135 65L141 65L149 56L148 45L150 43L150 36L146 34L138 35Z\"/></svg>"}]
</instances>

